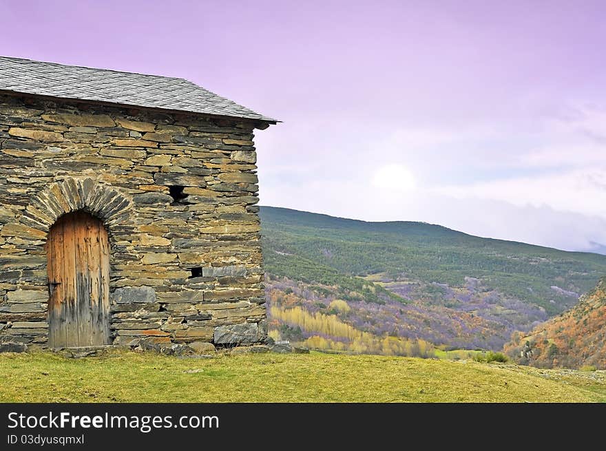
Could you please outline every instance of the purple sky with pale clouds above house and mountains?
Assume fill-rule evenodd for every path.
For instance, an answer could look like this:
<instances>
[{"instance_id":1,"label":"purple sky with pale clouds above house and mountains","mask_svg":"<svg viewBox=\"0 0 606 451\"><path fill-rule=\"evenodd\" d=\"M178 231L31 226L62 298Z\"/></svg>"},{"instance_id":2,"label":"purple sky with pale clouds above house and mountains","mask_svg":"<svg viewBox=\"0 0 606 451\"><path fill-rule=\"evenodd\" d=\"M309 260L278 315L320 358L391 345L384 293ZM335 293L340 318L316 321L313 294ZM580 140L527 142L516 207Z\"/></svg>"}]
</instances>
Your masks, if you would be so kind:
<instances>
[{"instance_id":1,"label":"purple sky with pale clouds above house and mountains","mask_svg":"<svg viewBox=\"0 0 606 451\"><path fill-rule=\"evenodd\" d=\"M604 1L0 1L0 54L188 78L284 123L262 204L606 244Z\"/></svg>"}]
</instances>

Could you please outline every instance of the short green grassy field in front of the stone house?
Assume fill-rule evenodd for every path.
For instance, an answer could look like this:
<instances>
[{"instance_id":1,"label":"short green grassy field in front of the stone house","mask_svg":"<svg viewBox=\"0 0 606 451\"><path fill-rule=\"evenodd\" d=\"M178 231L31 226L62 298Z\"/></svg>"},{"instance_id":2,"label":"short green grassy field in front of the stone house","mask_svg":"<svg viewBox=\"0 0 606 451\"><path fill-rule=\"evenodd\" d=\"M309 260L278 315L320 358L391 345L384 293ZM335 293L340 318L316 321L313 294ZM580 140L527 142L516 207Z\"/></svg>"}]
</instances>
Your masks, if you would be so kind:
<instances>
[{"instance_id":1,"label":"short green grassy field in front of the stone house","mask_svg":"<svg viewBox=\"0 0 606 451\"><path fill-rule=\"evenodd\" d=\"M606 401L606 372L374 355L0 355L3 402Z\"/></svg>"}]
</instances>

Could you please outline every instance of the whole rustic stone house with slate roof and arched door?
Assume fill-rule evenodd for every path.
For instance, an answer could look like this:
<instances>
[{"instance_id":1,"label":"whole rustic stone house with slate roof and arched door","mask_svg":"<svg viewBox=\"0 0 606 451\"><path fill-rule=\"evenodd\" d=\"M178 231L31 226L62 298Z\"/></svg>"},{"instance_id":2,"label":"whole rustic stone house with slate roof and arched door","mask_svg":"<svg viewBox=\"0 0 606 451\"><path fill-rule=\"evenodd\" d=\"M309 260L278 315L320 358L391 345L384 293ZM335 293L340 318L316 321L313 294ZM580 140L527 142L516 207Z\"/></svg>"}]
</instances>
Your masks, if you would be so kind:
<instances>
[{"instance_id":1,"label":"whole rustic stone house with slate roof and arched door","mask_svg":"<svg viewBox=\"0 0 606 451\"><path fill-rule=\"evenodd\" d=\"M0 342L267 337L254 129L181 78L0 57Z\"/></svg>"}]
</instances>

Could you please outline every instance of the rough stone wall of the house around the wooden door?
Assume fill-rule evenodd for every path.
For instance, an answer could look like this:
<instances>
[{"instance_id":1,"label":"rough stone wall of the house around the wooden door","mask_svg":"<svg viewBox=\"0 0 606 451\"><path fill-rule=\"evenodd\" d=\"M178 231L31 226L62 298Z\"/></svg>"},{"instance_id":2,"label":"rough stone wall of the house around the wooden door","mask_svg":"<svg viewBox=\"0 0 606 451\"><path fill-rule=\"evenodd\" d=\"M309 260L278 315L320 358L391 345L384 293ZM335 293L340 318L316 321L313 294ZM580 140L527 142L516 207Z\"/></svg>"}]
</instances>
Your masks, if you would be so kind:
<instances>
[{"instance_id":1,"label":"rough stone wall of the house around the wooden door","mask_svg":"<svg viewBox=\"0 0 606 451\"><path fill-rule=\"evenodd\" d=\"M79 209L109 233L114 344L263 342L254 127L0 94L0 342L47 342L45 239Z\"/></svg>"}]
</instances>

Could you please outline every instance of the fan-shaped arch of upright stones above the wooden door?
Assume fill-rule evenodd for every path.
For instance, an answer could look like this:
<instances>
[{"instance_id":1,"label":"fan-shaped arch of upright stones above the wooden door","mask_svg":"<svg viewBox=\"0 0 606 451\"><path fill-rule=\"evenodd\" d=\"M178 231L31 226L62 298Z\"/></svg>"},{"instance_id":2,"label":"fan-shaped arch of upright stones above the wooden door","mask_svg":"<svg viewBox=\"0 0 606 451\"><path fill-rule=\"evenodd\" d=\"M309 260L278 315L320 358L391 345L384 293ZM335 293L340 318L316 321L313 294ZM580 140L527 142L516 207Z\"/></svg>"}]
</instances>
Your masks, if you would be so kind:
<instances>
[{"instance_id":1,"label":"fan-shaped arch of upright stones above the wooden door","mask_svg":"<svg viewBox=\"0 0 606 451\"><path fill-rule=\"evenodd\" d=\"M36 193L19 222L48 233L61 216L87 211L101 219L109 233L112 226L131 222L132 200L109 185L92 178L65 178Z\"/></svg>"}]
</instances>

